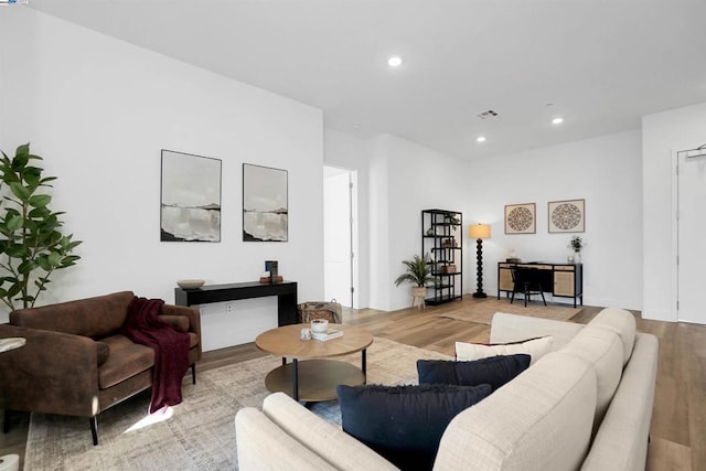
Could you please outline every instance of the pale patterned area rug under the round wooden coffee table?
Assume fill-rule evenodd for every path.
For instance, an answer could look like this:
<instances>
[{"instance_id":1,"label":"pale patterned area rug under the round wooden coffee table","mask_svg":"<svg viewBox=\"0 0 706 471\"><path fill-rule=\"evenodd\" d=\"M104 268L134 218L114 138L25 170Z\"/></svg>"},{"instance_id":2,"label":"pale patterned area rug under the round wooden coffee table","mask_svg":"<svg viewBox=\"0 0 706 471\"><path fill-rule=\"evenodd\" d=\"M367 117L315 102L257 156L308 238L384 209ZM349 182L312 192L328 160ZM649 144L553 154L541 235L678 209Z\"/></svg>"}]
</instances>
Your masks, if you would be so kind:
<instances>
[{"instance_id":1,"label":"pale patterned area rug under the round wooden coffee table","mask_svg":"<svg viewBox=\"0 0 706 471\"><path fill-rule=\"evenodd\" d=\"M448 356L375 339L367 352L368 384L416 384L419 358ZM361 355L344 357L360 365ZM146 425L149 390L98 416L94 447L85 417L32 414L24 457L25 470L232 470L237 469L235 414L261 407L269 394L265 375L281 360L266 356L188 375L183 403L171 417ZM315 404L315 414L340 424L338 402ZM153 417L152 417L153 418Z\"/></svg>"}]
</instances>

